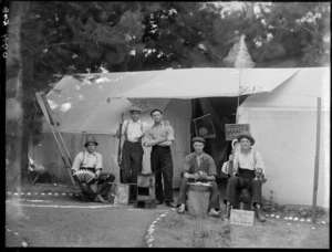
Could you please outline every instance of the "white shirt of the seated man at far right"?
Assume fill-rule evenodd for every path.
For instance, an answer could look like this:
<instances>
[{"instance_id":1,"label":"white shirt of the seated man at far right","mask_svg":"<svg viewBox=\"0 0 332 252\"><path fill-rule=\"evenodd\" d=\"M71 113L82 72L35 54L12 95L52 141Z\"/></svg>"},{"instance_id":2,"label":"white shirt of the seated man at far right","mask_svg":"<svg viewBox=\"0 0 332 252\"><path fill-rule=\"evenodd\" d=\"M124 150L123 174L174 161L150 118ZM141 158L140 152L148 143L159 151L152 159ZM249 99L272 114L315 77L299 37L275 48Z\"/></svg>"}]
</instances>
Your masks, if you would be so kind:
<instances>
[{"instance_id":1,"label":"white shirt of the seated man at far right","mask_svg":"<svg viewBox=\"0 0 332 252\"><path fill-rule=\"evenodd\" d=\"M256 170L257 168L262 169L262 174L266 176L266 166L263 159L259 151L251 149L249 155L243 155L241 151L235 153L234 159L234 172L237 172L238 168L248 169L248 170ZM222 165L221 170L225 174L229 171L229 161Z\"/></svg>"}]
</instances>

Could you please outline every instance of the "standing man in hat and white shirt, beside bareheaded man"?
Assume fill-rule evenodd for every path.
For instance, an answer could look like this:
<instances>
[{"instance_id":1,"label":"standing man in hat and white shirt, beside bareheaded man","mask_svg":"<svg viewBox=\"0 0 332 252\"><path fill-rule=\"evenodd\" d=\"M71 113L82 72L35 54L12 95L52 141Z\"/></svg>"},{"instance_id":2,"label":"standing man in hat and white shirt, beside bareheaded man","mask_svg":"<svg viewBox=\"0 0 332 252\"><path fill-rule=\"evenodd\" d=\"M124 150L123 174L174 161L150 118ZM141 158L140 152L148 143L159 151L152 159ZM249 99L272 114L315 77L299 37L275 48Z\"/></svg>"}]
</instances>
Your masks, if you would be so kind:
<instances>
[{"instance_id":1,"label":"standing man in hat and white shirt, beside bareheaded man","mask_svg":"<svg viewBox=\"0 0 332 252\"><path fill-rule=\"evenodd\" d=\"M122 167L124 170L124 183L137 183L137 175L142 172L142 161L144 150L142 147L142 137L148 125L139 119L142 109L136 106L129 108L131 120L122 122L122 135L124 144L122 147ZM115 136L120 138L120 128ZM137 186L131 186L129 202L136 201Z\"/></svg>"}]
</instances>

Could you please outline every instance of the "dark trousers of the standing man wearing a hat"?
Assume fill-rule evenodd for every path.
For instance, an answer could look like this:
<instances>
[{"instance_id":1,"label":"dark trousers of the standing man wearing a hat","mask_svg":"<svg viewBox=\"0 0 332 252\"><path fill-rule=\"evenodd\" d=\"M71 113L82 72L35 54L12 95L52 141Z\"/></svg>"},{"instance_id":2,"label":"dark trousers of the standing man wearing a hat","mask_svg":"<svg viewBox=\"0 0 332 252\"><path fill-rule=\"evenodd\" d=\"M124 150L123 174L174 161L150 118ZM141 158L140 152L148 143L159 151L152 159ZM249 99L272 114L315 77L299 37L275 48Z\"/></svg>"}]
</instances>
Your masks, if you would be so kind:
<instances>
[{"instance_id":1,"label":"dark trousers of the standing man wearing a hat","mask_svg":"<svg viewBox=\"0 0 332 252\"><path fill-rule=\"evenodd\" d=\"M143 147L141 143L125 141L122 148L122 166L124 169L124 183L136 183L131 186L131 200L136 199L137 175L142 172Z\"/></svg>"}]
</instances>

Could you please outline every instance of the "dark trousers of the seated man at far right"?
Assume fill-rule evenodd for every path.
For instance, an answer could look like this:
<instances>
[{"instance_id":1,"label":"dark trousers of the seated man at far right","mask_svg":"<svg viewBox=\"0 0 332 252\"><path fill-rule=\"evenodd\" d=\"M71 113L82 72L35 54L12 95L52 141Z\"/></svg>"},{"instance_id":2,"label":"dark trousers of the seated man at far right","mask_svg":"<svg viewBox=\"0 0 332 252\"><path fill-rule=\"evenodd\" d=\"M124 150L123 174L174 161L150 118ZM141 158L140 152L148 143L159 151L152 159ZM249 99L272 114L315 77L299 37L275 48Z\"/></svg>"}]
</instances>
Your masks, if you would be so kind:
<instances>
[{"instance_id":1,"label":"dark trousers of the seated man at far right","mask_svg":"<svg viewBox=\"0 0 332 252\"><path fill-rule=\"evenodd\" d=\"M229 201L230 204L235 204L237 195L242 188L248 189L252 195L253 207L261 204L261 181L253 179L255 171L239 168L238 176L230 177L227 180L226 196L224 202Z\"/></svg>"}]
</instances>

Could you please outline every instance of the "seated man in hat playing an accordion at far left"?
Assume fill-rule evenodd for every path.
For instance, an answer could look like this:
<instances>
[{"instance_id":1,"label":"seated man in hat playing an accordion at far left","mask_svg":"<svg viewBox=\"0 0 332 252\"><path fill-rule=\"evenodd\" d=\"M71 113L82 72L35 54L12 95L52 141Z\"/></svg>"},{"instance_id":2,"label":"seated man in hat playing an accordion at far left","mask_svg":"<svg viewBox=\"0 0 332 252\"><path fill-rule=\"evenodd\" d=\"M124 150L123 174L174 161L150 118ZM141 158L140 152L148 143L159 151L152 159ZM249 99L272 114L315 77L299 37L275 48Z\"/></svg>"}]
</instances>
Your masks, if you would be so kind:
<instances>
[{"instance_id":1,"label":"seated man in hat playing an accordion at far left","mask_svg":"<svg viewBox=\"0 0 332 252\"><path fill-rule=\"evenodd\" d=\"M94 172L95 178L97 179L97 188L93 190L91 186L84 182L79 182L82 193L91 201L107 203L107 196L110 193L115 176L106 171L103 171L103 174L101 174L101 171L103 170L103 157L101 154L95 151L97 145L98 143L93 136L87 136L84 144L86 151L77 154L71 170L74 178L75 172L80 169L85 169Z\"/></svg>"}]
</instances>

